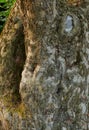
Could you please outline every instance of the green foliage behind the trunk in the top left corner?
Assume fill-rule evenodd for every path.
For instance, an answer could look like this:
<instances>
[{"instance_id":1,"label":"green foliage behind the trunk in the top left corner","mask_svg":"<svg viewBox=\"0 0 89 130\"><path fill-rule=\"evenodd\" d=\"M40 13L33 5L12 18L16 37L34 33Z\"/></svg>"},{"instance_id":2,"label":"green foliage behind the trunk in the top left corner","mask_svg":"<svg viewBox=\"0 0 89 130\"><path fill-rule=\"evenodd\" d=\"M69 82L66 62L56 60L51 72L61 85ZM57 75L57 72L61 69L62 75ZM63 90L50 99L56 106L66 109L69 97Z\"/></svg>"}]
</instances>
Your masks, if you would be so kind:
<instances>
[{"instance_id":1,"label":"green foliage behind the trunk in the top left corner","mask_svg":"<svg viewBox=\"0 0 89 130\"><path fill-rule=\"evenodd\" d=\"M11 6L15 0L0 0L0 32L3 29L5 21L10 13Z\"/></svg>"}]
</instances>

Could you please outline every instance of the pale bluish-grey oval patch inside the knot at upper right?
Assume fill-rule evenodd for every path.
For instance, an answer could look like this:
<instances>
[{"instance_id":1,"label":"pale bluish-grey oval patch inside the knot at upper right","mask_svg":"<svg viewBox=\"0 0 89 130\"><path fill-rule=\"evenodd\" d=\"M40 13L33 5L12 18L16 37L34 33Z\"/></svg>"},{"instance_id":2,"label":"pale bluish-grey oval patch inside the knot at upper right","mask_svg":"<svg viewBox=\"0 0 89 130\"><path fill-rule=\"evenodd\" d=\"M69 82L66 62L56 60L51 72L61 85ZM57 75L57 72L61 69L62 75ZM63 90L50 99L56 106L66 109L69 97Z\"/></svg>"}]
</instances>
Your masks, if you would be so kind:
<instances>
[{"instance_id":1,"label":"pale bluish-grey oval patch inside the knot at upper right","mask_svg":"<svg viewBox=\"0 0 89 130\"><path fill-rule=\"evenodd\" d=\"M65 32L70 33L73 29L73 18L72 16L68 15L65 21Z\"/></svg>"}]
</instances>

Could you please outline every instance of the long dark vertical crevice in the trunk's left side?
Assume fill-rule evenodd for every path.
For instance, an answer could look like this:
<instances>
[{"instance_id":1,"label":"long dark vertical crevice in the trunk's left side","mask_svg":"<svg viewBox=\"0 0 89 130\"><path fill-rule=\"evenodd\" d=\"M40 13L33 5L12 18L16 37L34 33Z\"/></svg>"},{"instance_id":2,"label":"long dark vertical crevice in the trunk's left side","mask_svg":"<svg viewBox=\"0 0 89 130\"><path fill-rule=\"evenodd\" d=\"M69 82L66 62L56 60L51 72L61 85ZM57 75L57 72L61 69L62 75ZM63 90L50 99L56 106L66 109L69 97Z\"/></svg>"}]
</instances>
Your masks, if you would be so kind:
<instances>
[{"instance_id":1,"label":"long dark vertical crevice in the trunk's left side","mask_svg":"<svg viewBox=\"0 0 89 130\"><path fill-rule=\"evenodd\" d=\"M19 94L19 85L21 74L24 68L26 53L24 45L23 26L16 31L15 38L12 41L12 59L13 59L13 82L12 82L12 101L17 104L21 102Z\"/></svg>"}]
</instances>

